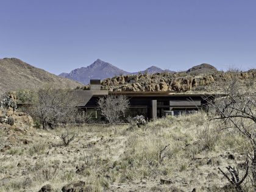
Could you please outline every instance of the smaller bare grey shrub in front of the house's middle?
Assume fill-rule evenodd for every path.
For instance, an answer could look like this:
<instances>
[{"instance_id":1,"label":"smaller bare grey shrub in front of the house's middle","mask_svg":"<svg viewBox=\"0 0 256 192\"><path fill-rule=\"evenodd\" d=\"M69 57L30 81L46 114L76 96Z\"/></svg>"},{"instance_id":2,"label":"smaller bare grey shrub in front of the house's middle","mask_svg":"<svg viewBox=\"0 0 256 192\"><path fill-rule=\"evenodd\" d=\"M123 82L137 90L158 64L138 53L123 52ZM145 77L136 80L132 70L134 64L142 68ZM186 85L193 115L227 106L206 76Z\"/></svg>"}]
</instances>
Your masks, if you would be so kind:
<instances>
[{"instance_id":1,"label":"smaller bare grey shrub in front of the house's middle","mask_svg":"<svg viewBox=\"0 0 256 192\"><path fill-rule=\"evenodd\" d=\"M128 107L129 99L123 94L119 94L118 96L111 94L105 98L100 98L98 101L98 108L102 116L104 116L110 124L119 123L121 116L125 116Z\"/></svg>"}]
</instances>

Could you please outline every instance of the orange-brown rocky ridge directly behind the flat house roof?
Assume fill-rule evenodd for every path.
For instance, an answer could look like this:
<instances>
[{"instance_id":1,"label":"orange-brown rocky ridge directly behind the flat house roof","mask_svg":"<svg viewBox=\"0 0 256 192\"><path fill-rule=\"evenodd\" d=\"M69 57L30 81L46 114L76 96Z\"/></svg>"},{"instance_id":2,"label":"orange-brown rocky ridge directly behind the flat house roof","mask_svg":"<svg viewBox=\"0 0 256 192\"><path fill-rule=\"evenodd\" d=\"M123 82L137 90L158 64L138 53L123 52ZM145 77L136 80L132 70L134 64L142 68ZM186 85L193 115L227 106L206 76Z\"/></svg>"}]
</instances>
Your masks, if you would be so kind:
<instances>
[{"instance_id":1,"label":"orange-brown rocky ridge directly behind the flat house roof","mask_svg":"<svg viewBox=\"0 0 256 192\"><path fill-rule=\"evenodd\" d=\"M211 93L221 90L221 84L233 78L240 80L245 86L249 84L256 85L256 71L241 73L216 71L197 76L189 73L118 76L102 80L102 89L113 91L171 91L173 93L192 91L194 93ZM87 90L90 85L82 88Z\"/></svg>"}]
</instances>

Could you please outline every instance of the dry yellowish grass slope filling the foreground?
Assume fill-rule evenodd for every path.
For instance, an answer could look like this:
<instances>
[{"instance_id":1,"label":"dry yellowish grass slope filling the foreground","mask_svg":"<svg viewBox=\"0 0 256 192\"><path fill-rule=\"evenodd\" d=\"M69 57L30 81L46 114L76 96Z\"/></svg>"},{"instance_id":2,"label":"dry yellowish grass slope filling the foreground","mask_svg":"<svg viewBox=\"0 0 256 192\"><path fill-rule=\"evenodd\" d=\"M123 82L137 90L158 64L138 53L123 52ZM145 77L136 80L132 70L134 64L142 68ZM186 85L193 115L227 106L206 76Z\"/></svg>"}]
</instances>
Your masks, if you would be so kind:
<instances>
[{"instance_id":1,"label":"dry yellowish grass slope filling the foreground","mask_svg":"<svg viewBox=\"0 0 256 192\"><path fill-rule=\"evenodd\" d=\"M243 162L249 148L235 130L220 132L221 124L207 121L204 112L135 129L70 129L77 136L68 146L55 130L1 129L4 145L11 148L0 153L0 191L38 191L47 183L60 191L76 180L84 180L93 191L221 191L227 180L218 166ZM29 142L24 144L24 139ZM227 159L229 154L235 160ZM171 183L161 185L160 179Z\"/></svg>"}]
</instances>

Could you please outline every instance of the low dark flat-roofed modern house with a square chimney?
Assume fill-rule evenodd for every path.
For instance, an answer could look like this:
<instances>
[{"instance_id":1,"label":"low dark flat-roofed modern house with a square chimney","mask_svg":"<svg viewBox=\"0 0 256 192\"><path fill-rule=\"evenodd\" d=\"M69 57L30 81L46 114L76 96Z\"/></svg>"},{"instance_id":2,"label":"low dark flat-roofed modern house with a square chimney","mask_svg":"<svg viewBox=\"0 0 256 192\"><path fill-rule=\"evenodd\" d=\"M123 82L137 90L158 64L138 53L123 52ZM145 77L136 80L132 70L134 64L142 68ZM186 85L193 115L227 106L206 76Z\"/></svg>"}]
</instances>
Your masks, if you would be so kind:
<instances>
[{"instance_id":1,"label":"low dark flat-roofed modern house with a square chimney","mask_svg":"<svg viewBox=\"0 0 256 192\"><path fill-rule=\"evenodd\" d=\"M99 118L98 99L109 95L124 94L129 98L127 116L143 115L148 119L162 118L166 114L192 113L207 108L207 99L215 99L213 94L186 94L165 91L108 91L101 90L100 80L91 80L90 90L76 90L79 107Z\"/></svg>"}]
</instances>

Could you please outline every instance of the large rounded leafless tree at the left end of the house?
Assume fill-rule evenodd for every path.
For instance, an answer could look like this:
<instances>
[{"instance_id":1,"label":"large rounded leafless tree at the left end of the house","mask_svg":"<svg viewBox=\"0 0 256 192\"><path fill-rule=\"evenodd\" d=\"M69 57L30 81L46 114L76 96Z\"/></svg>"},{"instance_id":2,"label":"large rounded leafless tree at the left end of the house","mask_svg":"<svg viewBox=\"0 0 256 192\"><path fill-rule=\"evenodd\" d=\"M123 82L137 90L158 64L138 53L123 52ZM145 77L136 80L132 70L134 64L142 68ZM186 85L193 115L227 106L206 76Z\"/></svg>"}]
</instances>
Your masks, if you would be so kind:
<instances>
[{"instance_id":1,"label":"large rounded leafless tree at the left end of the house","mask_svg":"<svg viewBox=\"0 0 256 192\"><path fill-rule=\"evenodd\" d=\"M73 91L40 88L29 112L43 126L54 128L59 123L73 123L77 115L77 98Z\"/></svg>"}]
</instances>

